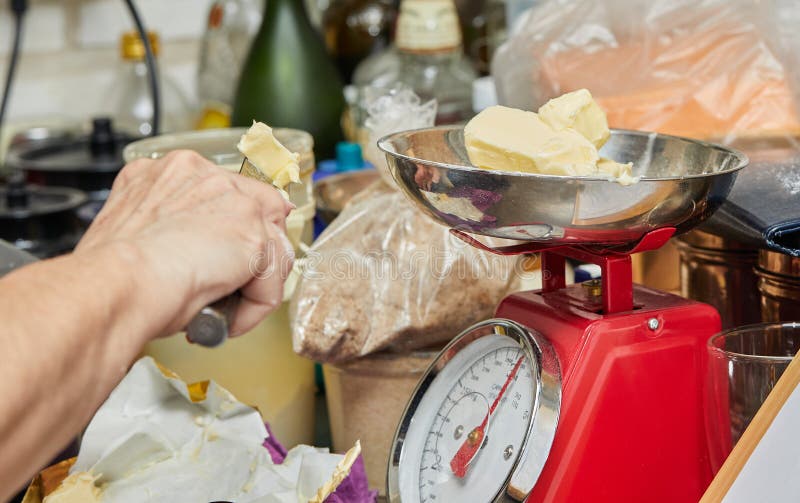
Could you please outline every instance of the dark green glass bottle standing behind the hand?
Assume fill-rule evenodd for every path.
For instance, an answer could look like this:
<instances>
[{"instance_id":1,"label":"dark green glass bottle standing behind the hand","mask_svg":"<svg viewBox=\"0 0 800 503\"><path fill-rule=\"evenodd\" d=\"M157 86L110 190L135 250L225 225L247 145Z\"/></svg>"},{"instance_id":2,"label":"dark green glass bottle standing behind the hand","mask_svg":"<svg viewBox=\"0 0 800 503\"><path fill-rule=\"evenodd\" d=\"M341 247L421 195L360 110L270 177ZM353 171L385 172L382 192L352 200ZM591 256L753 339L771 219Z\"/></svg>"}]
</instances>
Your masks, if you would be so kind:
<instances>
[{"instance_id":1,"label":"dark green glass bottle standing behind the hand","mask_svg":"<svg viewBox=\"0 0 800 503\"><path fill-rule=\"evenodd\" d=\"M231 123L253 120L314 137L317 159L334 156L342 139L344 95L339 72L311 25L305 2L268 0L233 103Z\"/></svg>"}]
</instances>

